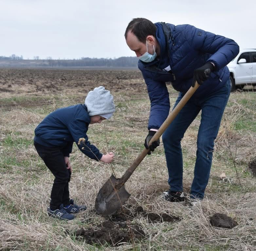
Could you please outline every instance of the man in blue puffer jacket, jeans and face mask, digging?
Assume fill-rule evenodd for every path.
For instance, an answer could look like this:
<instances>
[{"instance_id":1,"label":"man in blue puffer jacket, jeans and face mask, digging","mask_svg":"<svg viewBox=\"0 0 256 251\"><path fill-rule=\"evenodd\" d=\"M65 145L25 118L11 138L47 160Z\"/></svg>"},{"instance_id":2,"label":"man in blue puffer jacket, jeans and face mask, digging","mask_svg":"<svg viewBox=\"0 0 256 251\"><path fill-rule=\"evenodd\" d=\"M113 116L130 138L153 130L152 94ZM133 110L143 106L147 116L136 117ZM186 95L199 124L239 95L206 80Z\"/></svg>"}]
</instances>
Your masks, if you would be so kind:
<instances>
[{"instance_id":1,"label":"man in blue puffer jacket, jeans and face mask, digging","mask_svg":"<svg viewBox=\"0 0 256 251\"><path fill-rule=\"evenodd\" d=\"M170 185L163 198L170 202L185 199L180 142L201 110L190 196L192 199L203 199L210 176L214 140L230 94L226 65L237 56L239 46L229 38L192 25L153 24L145 18L135 18L128 24L125 39L140 59L138 68L146 82L151 102L149 133L144 143L146 148L154 151L159 145L159 141L153 142L152 146L148 143L169 114L169 93L165 83L172 82L179 92L174 107L195 81L200 84L162 136Z\"/></svg>"}]
</instances>

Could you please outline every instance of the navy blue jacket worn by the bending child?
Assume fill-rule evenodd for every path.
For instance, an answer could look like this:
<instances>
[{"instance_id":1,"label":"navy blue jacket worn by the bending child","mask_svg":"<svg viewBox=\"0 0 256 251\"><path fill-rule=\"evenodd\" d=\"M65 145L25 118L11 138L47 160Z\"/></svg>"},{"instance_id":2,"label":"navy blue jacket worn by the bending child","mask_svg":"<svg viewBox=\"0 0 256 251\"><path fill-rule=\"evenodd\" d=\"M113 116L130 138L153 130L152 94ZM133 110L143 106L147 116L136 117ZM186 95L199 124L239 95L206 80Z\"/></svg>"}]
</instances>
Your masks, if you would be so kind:
<instances>
[{"instance_id":1,"label":"navy blue jacket worn by the bending child","mask_svg":"<svg viewBox=\"0 0 256 251\"><path fill-rule=\"evenodd\" d=\"M86 135L89 124L90 116L85 105L60 108L48 114L36 127L34 142L46 147L58 146L67 157L72 152L73 142L76 142L82 153L100 160L102 154L90 144ZM85 139L85 145L78 145L80 138Z\"/></svg>"}]
</instances>

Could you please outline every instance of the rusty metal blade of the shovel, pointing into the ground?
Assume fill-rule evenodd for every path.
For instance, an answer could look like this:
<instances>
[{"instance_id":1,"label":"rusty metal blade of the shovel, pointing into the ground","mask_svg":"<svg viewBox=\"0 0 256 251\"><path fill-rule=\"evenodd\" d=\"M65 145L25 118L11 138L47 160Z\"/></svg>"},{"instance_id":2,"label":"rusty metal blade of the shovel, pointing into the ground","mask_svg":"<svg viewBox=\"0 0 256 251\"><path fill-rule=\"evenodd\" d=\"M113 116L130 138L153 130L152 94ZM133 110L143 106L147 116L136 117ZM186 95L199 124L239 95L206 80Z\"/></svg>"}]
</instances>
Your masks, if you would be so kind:
<instances>
[{"instance_id":1,"label":"rusty metal blade of the shovel, pointing into the ground","mask_svg":"<svg viewBox=\"0 0 256 251\"><path fill-rule=\"evenodd\" d=\"M117 179L112 174L98 192L95 200L95 209L100 215L106 216L115 213L131 196L131 194L125 190L124 185L116 189L116 185L119 181L120 179Z\"/></svg>"}]
</instances>

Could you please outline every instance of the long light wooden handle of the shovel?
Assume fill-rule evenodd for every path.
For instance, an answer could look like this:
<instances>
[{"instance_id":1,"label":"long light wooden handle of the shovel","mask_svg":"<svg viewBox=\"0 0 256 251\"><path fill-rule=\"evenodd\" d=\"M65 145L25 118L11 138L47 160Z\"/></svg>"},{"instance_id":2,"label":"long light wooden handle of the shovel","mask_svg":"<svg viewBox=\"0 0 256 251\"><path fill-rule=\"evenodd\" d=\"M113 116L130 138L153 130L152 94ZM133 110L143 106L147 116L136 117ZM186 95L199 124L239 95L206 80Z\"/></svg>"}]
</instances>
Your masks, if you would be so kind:
<instances>
[{"instance_id":1,"label":"long light wooden handle of the shovel","mask_svg":"<svg viewBox=\"0 0 256 251\"><path fill-rule=\"evenodd\" d=\"M194 87L190 87L190 89L186 92L186 94L183 96L183 98L180 100L177 106L172 110L172 112L168 115L167 119L164 121L164 123L155 133L153 138L150 140L149 145L151 145L152 142L157 141L161 137L163 132L172 123L172 121L177 116L179 111L185 106L185 104L188 102L188 100L191 98L191 96L194 94L194 92L197 90L198 87L199 87L199 84L197 82L195 82ZM130 178L134 170L137 168L139 163L145 158L145 156L149 151L150 149L146 149L146 148L142 150L142 152L139 154L137 159L133 161L132 165L126 170L124 175L121 177L118 187L121 187Z\"/></svg>"}]
</instances>

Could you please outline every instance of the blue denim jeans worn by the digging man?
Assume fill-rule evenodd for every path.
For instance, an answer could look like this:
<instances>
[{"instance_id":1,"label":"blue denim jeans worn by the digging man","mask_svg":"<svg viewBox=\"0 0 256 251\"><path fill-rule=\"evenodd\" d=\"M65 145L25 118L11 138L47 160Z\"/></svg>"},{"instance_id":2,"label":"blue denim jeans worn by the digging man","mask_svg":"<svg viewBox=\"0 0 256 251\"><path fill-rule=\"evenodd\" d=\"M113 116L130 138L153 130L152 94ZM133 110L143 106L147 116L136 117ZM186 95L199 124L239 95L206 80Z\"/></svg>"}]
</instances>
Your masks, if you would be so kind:
<instances>
[{"instance_id":1,"label":"blue denim jeans worn by the digging man","mask_svg":"<svg viewBox=\"0 0 256 251\"><path fill-rule=\"evenodd\" d=\"M214 140L217 137L221 118L230 94L230 80L218 91L203 98L193 96L181 109L171 125L163 133L162 140L168 168L168 183L172 191L183 191L183 159L181 139L192 121L202 110L197 135L197 151L191 197L204 198L210 176ZM179 93L174 107L184 95Z\"/></svg>"}]
</instances>

